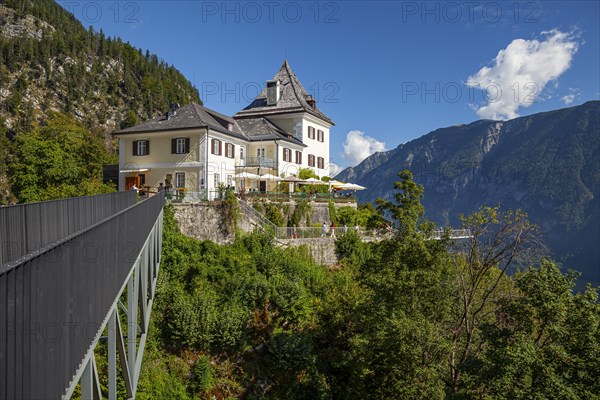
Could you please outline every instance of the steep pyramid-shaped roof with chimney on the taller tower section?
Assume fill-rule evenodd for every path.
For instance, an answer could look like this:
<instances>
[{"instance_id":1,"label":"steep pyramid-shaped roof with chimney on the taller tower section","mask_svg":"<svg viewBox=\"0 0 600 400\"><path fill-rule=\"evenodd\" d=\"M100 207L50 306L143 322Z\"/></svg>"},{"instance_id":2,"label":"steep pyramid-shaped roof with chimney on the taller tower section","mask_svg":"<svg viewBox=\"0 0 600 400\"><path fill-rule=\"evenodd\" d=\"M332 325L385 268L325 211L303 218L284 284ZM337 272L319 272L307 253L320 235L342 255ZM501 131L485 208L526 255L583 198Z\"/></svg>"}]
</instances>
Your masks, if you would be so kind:
<instances>
[{"instance_id":1,"label":"steep pyramid-shaped roof with chimney on the taller tower section","mask_svg":"<svg viewBox=\"0 0 600 400\"><path fill-rule=\"evenodd\" d=\"M307 112L323 121L333 125L330 120L314 103L314 107L308 103L312 97L308 94L300 80L294 74L287 60L273 77L281 85L281 96L276 105L267 105L267 88L265 87L254 101L246 108L234 115L236 119L262 117L275 114L287 114L293 112Z\"/></svg>"}]
</instances>

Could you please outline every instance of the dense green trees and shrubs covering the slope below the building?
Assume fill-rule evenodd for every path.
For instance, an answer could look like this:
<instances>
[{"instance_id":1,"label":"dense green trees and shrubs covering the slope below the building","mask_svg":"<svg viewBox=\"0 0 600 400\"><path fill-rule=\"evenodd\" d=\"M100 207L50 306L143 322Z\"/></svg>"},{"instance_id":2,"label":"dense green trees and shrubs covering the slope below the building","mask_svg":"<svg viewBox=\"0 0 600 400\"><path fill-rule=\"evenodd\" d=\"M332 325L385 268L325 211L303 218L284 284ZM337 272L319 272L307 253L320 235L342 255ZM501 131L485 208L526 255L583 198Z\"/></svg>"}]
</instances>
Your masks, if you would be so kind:
<instances>
[{"instance_id":1,"label":"dense green trees and shrubs covering the slope below the building","mask_svg":"<svg viewBox=\"0 0 600 400\"><path fill-rule=\"evenodd\" d=\"M423 188L400 178L378 202L398 234L338 238L335 269L268 233L185 237L167 208L138 397L599 399L597 290L539 258L519 211L465 218L463 251L424 240Z\"/></svg>"}]
</instances>

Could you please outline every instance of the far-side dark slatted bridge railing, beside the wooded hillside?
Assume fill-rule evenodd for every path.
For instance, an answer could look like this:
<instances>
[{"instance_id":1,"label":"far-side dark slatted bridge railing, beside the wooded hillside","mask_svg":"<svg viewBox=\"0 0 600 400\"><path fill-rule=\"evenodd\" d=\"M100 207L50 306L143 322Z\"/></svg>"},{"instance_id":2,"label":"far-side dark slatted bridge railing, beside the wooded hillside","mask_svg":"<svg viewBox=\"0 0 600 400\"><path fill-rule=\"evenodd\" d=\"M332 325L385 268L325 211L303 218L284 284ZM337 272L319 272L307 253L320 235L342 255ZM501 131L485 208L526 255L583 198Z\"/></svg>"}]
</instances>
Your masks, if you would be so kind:
<instances>
[{"instance_id":1,"label":"far-side dark slatted bridge railing, beside the wooded hillside","mask_svg":"<svg viewBox=\"0 0 600 400\"><path fill-rule=\"evenodd\" d=\"M0 207L0 265L66 238L133 205L135 192Z\"/></svg>"}]
</instances>

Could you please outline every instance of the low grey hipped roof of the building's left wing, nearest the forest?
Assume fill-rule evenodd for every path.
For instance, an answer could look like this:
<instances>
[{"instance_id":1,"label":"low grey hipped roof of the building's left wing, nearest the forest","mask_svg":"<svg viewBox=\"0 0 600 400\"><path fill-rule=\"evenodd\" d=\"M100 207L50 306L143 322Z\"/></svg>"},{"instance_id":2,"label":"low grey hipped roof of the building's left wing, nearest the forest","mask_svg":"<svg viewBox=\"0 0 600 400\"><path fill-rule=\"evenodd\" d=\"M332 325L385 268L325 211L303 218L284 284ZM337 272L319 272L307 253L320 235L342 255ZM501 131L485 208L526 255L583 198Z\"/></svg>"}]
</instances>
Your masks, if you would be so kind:
<instances>
[{"instance_id":1,"label":"low grey hipped roof of the building's left wing, nearest the forest","mask_svg":"<svg viewBox=\"0 0 600 400\"><path fill-rule=\"evenodd\" d=\"M228 129L230 124L231 129ZM244 135L242 128L235 119L193 103L178 108L176 114L168 119L166 115L161 115L142 124L115 131L113 135L206 127L217 132L248 140L248 137Z\"/></svg>"}]
</instances>

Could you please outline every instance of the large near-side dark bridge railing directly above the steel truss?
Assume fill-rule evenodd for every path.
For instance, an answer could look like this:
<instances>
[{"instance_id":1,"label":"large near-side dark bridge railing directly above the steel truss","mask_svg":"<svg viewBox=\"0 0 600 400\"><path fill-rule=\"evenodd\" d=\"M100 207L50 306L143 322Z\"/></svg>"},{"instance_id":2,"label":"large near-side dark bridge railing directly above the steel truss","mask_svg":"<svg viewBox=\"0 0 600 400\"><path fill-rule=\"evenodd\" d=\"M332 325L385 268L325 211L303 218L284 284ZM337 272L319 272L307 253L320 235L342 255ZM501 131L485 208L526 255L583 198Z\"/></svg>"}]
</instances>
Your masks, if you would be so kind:
<instances>
[{"instance_id":1,"label":"large near-side dark bridge railing directly above the steel truss","mask_svg":"<svg viewBox=\"0 0 600 400\"><path fill-rule=\"evenodd\" d=\"M126 202L129 196L124 197ZM112 203L113 198L104 201ZM70 396L82 368L90 371L86 366L90 363L84 363L93 355L108 318L115 315L125 287L131 286L128 293L134 300L139 288L148 289L148 282L155 282L161 249L156 227L162 226L163 203L162 194L153 196L0 267L0 399ZM140 258L146 248L150 250ZM131 295L134 267L141 271L135 273L136 297ZM146 310L152 297L140 295L140 308ZM130 306L137 308L137 300ZM133 309L130 313L137 321ZM134 353L136 329L129 328L128 333L133 340L133 350L128 351ZM135 354L129 359L141 361ZM82 390L83 382L82 378ZM128 392L135 393L136 383L137 377Z\"/></svg>"}]
</instances>

